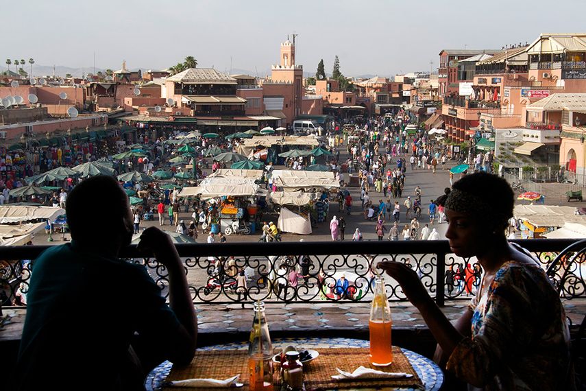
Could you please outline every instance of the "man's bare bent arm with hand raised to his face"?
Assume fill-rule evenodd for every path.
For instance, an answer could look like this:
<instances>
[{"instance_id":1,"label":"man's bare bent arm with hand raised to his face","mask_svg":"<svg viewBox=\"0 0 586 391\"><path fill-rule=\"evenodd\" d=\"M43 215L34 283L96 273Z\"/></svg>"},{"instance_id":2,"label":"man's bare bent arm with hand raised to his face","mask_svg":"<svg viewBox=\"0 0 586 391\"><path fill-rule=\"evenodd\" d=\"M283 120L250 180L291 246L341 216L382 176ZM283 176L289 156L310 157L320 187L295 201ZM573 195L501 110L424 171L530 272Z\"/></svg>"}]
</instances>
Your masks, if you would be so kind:
<instances>
[{"instance_id":1,"label":"man's bare bent arm with hand raised to his face","mask_svg":"<svg viewBox=\"0 0 586 391\"><path fill-rule=\"evenodd\" d=\"M176 364L187 364L195 355L197 315L179 254L171 237L156 227L147 228L143 232L138 249L150 250L169 271L169 305L181 324L171 337L169 359Z\"/></svg>"}]
</instances>

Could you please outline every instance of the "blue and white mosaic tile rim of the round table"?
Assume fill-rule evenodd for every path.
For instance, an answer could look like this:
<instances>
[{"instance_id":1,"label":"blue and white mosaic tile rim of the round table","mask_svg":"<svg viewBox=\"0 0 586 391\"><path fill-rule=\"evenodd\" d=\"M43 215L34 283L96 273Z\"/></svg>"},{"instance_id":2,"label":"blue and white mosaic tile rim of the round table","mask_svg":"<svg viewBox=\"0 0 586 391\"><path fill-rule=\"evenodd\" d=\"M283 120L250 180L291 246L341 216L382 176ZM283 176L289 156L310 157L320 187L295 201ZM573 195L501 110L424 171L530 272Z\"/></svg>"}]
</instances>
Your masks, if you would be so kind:
<instances>
[{"instance_id":1,"label":"blue and white mosaic tile rim of the round table","mask_svg":"<svg viewBox=\"0 0 586 391\"><path fill-rule=\"evenodd\" d=\"M273 348L285 348L286 346L303 346L313 348L319 352L320 348L367 348L369 342L365 340L354 340L352 338L283 338L273 341ZM216 351L229 349L246 349L248 342L234 342L215 346L199 348L200 351ZM443 383L443 372L432 360L419 355L418 353L401 348L405 357L409 360L419 378L422 379L426 391L438 391ZM152 370L145 381L147 391L161 390L164 379L171 372L171 362L164 362ZM401 389L404 390L404 389Z\"/></svg>"}]
</instances>

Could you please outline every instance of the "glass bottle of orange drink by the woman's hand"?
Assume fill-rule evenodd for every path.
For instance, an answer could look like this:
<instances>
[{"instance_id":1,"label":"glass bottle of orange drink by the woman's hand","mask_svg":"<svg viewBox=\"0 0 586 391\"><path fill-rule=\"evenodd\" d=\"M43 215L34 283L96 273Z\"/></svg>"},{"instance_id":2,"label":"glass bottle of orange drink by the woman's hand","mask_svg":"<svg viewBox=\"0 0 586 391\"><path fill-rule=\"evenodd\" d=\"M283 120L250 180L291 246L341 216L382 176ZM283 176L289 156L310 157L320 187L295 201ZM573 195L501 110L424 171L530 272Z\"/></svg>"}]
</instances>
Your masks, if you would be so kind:
<instances>
[{"instance_id":1,"label":"glass bottle of orange drink by the woman's hand","mask_svg":"<svg viewBox=\"0 0 586 391\"><path fill-rule=\"evenodd\" d=\"M370 362L376 366L387 366L393 362L391 346L391 308L384 291L384 279L376 277L374 298L370 307Z\"/></svg>"}]
</instances>

